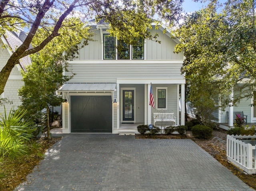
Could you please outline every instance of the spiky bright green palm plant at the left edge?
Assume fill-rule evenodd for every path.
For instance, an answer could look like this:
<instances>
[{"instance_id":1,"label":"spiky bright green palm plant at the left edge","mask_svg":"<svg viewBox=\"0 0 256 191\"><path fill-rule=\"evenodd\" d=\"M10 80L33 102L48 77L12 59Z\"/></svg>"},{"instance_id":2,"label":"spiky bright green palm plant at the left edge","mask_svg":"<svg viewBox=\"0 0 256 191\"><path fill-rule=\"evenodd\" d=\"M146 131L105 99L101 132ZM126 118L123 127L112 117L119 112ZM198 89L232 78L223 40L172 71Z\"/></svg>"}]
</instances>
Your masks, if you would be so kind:
<instances>
[{"instance_id":1,"label":"spiky bright green palm plant at the left edge","mask_svg":"<svg viewBox=\"0 0 256 191\"><path fill-rule=\"evenodd\" d=\"M17 158L28 151L26 142L32 139L32 121L24 120L25 110L16 110L7 115L6 109L0 116L0 158Z\"/></svg>"}]
</instances>

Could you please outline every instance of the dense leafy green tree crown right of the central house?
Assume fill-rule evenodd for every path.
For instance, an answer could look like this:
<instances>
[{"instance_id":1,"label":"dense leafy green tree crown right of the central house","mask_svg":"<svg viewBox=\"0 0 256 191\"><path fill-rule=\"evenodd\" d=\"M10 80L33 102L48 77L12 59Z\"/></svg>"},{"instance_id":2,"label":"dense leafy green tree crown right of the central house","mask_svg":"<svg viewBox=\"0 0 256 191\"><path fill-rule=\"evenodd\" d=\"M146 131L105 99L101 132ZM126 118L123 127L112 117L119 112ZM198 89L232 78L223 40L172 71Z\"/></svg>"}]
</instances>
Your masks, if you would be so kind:
<instances>
[{"instance_id":1,"label":"dense leafy green tree crown right of the central house","mask_svg":"<svg viewBox=\"0 0 256 191\"><path fill-rule=\"evenodd\" d=\"M210 108L225 108L231 89L243 90L234 98L235 103L250 97L255 86L255 2L230 0L222 12L217 13L216 8L218 4L212 2L205 9L186 15L176 30L181 43L175 52L183 49L186 57L181 71L189 87L188 100L198 108L212 100L215 104L212 102ZM243 87L236 86L239 82L245 83ZM218 102L221 105L216 105Z\"/></svg>"}]
</instances>

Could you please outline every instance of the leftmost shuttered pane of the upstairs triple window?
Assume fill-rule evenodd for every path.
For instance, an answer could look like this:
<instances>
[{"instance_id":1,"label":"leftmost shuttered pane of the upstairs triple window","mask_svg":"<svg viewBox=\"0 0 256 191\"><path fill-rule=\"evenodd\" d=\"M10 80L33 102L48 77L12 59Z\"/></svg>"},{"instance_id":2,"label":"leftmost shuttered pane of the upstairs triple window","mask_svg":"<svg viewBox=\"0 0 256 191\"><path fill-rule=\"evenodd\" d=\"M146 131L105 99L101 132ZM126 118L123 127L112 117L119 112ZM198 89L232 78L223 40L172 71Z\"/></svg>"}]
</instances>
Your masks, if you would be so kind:
<instances>
[{"instance_id":1,"label":"leftmost shuttered pane of the upstairs triple window","mask_svg":"<svg viewBox=\"0 0 256 191\"><path fill-rule=\"evenodd\" d=\"M104 34L104 59L116 59L116 39Z\"/></svg>"}]
</instances>

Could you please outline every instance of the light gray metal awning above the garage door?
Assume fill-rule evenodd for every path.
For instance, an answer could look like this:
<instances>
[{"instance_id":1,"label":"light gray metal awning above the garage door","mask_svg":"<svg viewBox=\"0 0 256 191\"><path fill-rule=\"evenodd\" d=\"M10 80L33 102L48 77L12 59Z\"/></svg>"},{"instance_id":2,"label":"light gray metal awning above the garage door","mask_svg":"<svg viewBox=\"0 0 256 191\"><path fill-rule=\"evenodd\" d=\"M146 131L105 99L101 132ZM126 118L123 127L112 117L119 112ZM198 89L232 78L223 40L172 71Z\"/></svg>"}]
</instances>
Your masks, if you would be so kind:
<instances>
[{"instance_id":1,"label":"light gray metal awning above the garage door","mask_svg":"<svg viewBox=\"0 0 256 191\"><path fill-rule=\"evenodd\" d=\"M116 83L65 83L59 92L114 92Z\"/></svg>"}]
</instances>

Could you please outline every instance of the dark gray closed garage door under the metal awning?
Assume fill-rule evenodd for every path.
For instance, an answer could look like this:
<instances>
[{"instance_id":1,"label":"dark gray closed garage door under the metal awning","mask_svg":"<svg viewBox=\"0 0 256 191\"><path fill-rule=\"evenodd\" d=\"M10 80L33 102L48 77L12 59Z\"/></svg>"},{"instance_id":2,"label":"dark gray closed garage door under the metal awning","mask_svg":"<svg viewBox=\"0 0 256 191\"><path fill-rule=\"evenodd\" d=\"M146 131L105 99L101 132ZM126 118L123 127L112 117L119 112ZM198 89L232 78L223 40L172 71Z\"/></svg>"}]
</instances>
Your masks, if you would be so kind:
<instances>
[{"instance_id":1,"label":"dark gray closed garage door under the metal awning","mask_svg":"<svg viewBox=\"0 0 256 191\"><path fill-rule=\"evenodd\" d=\"M71 96L71 132L111 133L111 96Z\"/></svg>"}]
</instances>

